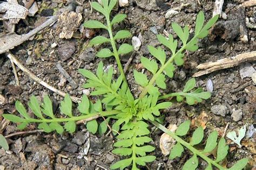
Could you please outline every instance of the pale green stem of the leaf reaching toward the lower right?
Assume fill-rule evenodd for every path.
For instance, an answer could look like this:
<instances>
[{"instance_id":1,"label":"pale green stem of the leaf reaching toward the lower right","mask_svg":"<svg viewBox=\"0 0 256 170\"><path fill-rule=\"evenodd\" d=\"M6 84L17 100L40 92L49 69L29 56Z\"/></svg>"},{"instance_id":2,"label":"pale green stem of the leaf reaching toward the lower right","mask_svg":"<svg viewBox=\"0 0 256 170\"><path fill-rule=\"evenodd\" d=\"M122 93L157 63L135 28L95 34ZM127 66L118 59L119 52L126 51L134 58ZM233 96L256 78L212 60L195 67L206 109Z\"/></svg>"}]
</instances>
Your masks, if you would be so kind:
<instances>
[{"instance_id":1,"label":"pale green stem of the leaf reaching toward the lower right","mask_svg":"<svg viewBox=\"0 0 256 170\"><path fill-rule=\"evenodd\" d=\"M214 160L208 158L204 153L198 151L196 148L194 148L193 146L191 146L189 143L187 143L185 140L181 139L180 137L178 137L174 132L168 130L165 128L165 126L161 125L160 123L156 122L156 121L150 121L153 125L157 126L157 128L159 128L161 131L165 132L166 134L169 134L173 139L175 139L177 142L179 142L181 145L185 146L186 148L188 148L188 150L190 150L191 152L193 152L193 154L198 155L199 157L203 158L205 161L208 162L208 164L212 164L215 167L219 168L219 169L225 169L223 168L221 165L219 165L217 162L215 162Z\"/></svg>"}]
</instances>

